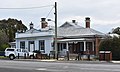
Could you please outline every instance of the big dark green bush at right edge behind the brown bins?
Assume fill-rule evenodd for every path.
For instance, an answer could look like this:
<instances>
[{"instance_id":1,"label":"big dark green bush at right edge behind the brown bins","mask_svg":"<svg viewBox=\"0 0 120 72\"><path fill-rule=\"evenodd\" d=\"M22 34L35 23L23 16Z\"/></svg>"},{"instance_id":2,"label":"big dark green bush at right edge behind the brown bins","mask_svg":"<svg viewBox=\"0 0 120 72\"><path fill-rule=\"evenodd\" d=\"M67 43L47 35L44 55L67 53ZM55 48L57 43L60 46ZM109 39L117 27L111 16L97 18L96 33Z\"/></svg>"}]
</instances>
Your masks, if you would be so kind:
<instances>
[{"instance_id":1,"label":"big dark green bush at right edge behind the brown bins","mask_svg":"<svg viewBox=\"0 0 120 72\"><path fill-rule=\"evenodd\" d=\"M120 60L120 37L106 38L99 46L100 51L111 51L113 60Z\"/></svg>"}]
</instances>

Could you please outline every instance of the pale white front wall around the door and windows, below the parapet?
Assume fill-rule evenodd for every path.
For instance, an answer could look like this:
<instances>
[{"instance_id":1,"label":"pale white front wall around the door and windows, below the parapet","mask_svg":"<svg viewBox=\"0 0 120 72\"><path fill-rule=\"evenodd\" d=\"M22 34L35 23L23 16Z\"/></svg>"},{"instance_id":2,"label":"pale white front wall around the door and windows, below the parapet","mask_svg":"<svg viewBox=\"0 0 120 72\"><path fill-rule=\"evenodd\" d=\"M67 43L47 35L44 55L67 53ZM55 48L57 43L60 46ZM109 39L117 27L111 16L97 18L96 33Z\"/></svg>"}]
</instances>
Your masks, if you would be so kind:
<instances>
[{"instance_id":1,"label":"pale white front wall around the door and windows, below the parapet","mask_svg":"<svg viewBox=\"0 0 120 72\"><path fill-rule=\"evenodd\" d=\"M53 37L52 36L19 38L19 39L16 39L16 48L20 48L20 42L25 41L25 48L28 49L29 47L28 42L34 41L35 50L39 50L39 40L45 40L45 53L49 54L50 51L53 49L52 47Z\"/></svg>"}]
</instances>

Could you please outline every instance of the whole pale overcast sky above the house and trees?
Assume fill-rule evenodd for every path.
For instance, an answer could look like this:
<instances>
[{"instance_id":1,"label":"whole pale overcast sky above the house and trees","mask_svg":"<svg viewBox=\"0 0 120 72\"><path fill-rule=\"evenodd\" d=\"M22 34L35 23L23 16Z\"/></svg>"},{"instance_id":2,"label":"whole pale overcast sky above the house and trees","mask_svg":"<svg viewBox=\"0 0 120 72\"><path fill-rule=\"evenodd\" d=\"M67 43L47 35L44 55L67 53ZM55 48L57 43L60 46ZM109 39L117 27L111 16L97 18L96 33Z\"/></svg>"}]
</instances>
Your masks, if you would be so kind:
<instances>
[{"instance_id":1,"label":"whole pale overcast sky above the house and trees","mask_svg":"<svg viewBox=\"0 0 120 72\"><path fill-rule=\"evenodd\" d=\"M91 28L103 33L120 26L120 0L0 0L0 20L22 20L28 28L32 22L39 29L41 18L54 20L54 2L57 2L58 26L76 20L85 27L85 17L90 17ZM39 8L2 9L29 7Z\"/></svg>"}]
</instances>

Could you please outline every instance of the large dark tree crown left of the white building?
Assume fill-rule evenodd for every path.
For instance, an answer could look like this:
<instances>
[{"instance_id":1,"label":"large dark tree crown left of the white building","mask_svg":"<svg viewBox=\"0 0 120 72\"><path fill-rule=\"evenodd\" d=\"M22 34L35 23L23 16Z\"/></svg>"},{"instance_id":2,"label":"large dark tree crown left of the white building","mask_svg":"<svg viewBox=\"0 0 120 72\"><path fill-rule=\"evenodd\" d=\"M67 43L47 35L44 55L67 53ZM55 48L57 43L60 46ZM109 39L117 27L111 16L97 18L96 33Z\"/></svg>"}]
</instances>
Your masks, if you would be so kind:
<instances>
[{"instance_id":1,"label":"large dark tree crown left of the white building","mask_svg":"<svg viewBox=\"0 0 120 72\"><path fill-rule=\"evenodd\" d=\"M27 27L22 23L21 20L11 19L0 20L0 30L5 31L6 35L9 37L9 42L14 41L16 32L25 32Z\"/></svg>"}]
</instances>

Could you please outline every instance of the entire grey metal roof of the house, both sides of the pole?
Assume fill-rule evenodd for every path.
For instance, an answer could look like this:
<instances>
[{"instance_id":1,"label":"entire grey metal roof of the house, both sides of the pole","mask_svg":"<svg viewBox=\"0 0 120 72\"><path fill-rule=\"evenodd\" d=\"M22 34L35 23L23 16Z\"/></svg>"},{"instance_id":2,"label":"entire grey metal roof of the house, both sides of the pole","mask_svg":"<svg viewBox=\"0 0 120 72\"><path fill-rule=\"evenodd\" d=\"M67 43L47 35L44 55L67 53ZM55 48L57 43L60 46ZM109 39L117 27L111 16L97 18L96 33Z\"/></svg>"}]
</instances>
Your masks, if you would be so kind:
<instances>
[{"instance_id":1,"label":"entire grey metal roof of the house, both sides of the pole","mask_svg":"<svg viewBox=\"0 0 120 72\"><path fill-rule=\"evenodd\" d=\"M39 33L39 32L49 32L53 31L54 32L54 27L49 27L46 28L45 30L37 30L37 29L30 29L26 31L26 34L29 33ZM63 25L58 27L57 29L58 37L91 37L91 36L105 36L104 33L101 33L99 31L96 31L92 28L84 28L82 26L79 26L77 23L72 23L72 22L65 22ZM54 33L53 33L54 34Z\"/></svg>"}]
</instances>

